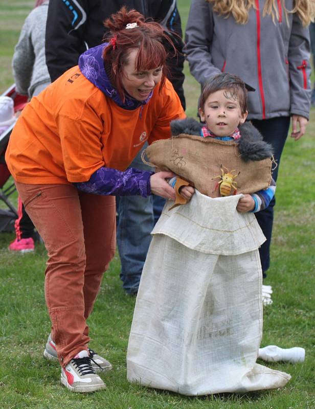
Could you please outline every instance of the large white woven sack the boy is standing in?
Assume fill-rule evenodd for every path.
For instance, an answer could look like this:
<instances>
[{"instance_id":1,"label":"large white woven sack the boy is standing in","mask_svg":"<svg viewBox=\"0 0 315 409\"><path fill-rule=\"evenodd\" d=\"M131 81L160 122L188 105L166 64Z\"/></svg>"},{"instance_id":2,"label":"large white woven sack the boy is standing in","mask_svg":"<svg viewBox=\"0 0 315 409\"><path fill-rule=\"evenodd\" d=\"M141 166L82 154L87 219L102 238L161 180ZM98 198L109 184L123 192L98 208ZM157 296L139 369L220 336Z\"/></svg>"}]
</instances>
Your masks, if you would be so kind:
<instances>
[{"instance_id":1,"label":"large white woven sack the boy is standing in","mask_svg":"<svg viewBox=\"0 0 315 409\"><path fill-rule=\"evenodd\" d=\"M127 351L127 378L184 395L283 387L290 375L256 363L262 336L265 238L240 195L198 191L153 229Z\"/></svg>"}]
</instances>

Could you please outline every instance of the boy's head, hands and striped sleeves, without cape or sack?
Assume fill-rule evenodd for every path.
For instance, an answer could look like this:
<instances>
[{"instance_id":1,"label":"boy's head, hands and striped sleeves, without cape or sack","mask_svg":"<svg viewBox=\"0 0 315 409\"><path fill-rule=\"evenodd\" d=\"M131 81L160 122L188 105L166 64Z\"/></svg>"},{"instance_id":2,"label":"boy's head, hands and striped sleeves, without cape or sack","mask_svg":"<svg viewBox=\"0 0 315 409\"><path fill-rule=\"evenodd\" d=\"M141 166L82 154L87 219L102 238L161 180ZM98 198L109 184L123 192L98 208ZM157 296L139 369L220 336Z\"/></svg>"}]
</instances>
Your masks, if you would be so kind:
<instances>
[{"instance_id":1,"label":"boy's head, hands and striped sleeves, without cape or sack","mask_svg":"<svg viewBox=\"0 0 315 409\"><path fill-rule=\"evenodd\" d=\"M222 141L235 140L240 142L242 125L247 117L247 90L244 82L232 74L221 73L211 78L202 89L199 98L199 115L204 126L200 129L202 138L215 138ZM182 120L186 121L186 120ZM180 121L176 121L177 124ZM169 183L175 186L177 177ZM276 184L274 179L267 189L253 194L244 194L238 201L237 211L259 212L268 207L274 197ZM191 186L180 190L181 196L189 200L194 193Z\"/></svg>"}]
</instances>

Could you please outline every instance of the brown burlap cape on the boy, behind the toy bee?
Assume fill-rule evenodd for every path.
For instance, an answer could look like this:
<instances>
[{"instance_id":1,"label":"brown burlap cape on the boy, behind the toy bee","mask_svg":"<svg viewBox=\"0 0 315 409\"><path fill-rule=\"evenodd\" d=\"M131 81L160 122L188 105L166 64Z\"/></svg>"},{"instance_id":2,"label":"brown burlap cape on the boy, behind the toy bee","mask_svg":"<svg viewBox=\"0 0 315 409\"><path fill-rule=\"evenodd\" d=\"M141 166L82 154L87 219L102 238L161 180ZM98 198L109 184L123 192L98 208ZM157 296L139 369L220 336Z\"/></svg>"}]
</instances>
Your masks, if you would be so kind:
<instances>
[{"instance_id":1,"label":"brown burlap cape on the boy, behind the toy bee","mask_svg":"<svg viewBox=\"0 0 315 409\"><path fill-rule=\"evenodd\" d=\"M239 157L237 143L213 138L200 138L195 135L180 134L167 140L154 142L146 149L146 157L152 166L159 170L171 170L192 181L195 187L210 197L220 197L218 182L224 172L237 175L237 193L255 193L266 189L271 182L272 160L244 162ZM235 194L231 187L230 195Z\"/></svg>"}]
</instances>

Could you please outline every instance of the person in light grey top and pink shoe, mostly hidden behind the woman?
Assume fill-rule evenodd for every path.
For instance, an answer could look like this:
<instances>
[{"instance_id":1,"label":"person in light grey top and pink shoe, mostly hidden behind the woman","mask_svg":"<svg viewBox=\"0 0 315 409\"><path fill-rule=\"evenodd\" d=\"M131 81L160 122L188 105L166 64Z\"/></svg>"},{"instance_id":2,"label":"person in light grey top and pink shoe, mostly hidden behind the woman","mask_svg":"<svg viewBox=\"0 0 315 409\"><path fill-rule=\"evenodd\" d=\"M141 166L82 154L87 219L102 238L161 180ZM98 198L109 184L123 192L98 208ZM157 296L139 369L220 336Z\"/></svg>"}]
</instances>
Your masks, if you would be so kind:
<instances>
[{"instance_id":1,"label":"person in light grey top and pink shoe, mostly hidden behind the woman","mask_svg":"<svg viewBox=\"0 0 315 409\"><path fill-rule=\"evenodd\" d=\"M30 99L46 88L51 80L45 58L45 32L49 0L37 0L35 8L25 19L12 59L15 90ZM26 253L34 251L34 224L18 197L18 218L15 239L9 250Z\"/></svg>"}]
</instances>

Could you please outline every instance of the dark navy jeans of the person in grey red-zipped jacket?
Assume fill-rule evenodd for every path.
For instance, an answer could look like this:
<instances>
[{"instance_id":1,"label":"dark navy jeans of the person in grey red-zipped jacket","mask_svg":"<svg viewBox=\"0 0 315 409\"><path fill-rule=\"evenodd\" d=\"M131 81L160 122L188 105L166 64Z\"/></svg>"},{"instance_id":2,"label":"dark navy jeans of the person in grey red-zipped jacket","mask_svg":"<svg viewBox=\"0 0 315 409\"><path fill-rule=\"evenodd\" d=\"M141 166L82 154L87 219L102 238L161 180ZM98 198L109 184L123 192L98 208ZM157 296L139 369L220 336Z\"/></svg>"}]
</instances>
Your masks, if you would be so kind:
<instances>
[{"instance_id":1,"label":"dark navy jeans of the person in grey red-zipped jacket","mask_svg":"<svg viewBox=\"0 0 315 409\"><path fill-rule=\"evenodd\" d=\"M282 150L287 138L287 134L290 126L290 117L279 117L264 120L252 120L253 125L263 135L264 141L272 145L274 150L274 157L278 164L277 168L273 172L273 178L276 181L279 172L280 158ZM260 225L263 234L266 237L266 241L259 248L259 255L261 261L261 268L263 278L266 277L266 271L270 265L270 242L274 221L274 206L276 203L275 197L271 200L267 209L261 212L255 213L256 219Z\"/></svg>"}]
</instances>

